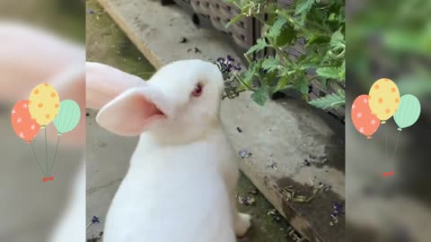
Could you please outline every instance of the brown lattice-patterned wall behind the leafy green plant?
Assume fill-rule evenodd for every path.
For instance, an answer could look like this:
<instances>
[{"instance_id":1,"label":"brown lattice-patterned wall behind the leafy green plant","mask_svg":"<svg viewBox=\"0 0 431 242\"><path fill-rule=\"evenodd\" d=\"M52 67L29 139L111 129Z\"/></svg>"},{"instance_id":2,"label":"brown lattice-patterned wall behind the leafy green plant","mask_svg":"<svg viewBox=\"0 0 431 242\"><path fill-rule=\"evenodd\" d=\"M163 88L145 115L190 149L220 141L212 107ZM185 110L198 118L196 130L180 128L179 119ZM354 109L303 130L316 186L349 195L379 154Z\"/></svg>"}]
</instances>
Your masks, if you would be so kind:
<instances>
[{"instance_id":1,"label":"brown lattice-patterned wall behind the leafy green plant","mask_svg":"<svg viewBox=\"0 0 431 242\"><path fill-rule=\"evenodd\" d=\"M240 10L232 4L225 3L223 0L162 0L173 1L180 5L182 9L189 12L193 16L193 22L203 28L214 28L223 32L228 40L232 41L235 45L234 49L238 56L243 54L251 48L256 40L261 37L262 24L253 18L243 18L239 22L235 22L230 28L226 29L225 26L235 16L240 13ZM294 0L278 0L277 3L282 7L290 7ZM286 53L294 59L306 55L305 39L298 39L295 44L286 49ZM267 48L253 57L263 58L265 56L273 56L275 52L273 49ZM309 77L316 76L315 70L307 71ZM336 85L330 84L325 87L320 80L315 79L310 86L310 99L319 99L325 95L337 92ZM344 107L332 108L329 113L338 117L344 122L346 110Z\"/></svg>"}]
</instances>

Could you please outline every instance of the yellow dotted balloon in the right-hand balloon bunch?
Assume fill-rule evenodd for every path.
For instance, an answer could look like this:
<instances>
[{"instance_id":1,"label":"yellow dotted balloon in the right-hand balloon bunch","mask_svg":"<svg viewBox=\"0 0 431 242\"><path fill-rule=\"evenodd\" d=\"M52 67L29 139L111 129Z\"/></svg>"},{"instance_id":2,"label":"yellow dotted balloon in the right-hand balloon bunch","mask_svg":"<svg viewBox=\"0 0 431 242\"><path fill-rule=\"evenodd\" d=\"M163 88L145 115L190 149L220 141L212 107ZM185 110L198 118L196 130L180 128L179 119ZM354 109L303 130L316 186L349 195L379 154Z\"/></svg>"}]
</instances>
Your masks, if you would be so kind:
<instances>
[{"instance_id":1,"label":"yellow dotted balloon in the right-hand balloon bunch","mask_svg":"<svg viewBox=\"0 0 431 242\"><path fill-rule=\"evenodd\" d=\"M387 78L377 80L370 89L368 101L373 114L385 124L400 107L400 91L397 84Z\"/></svg>"}]
</instances>

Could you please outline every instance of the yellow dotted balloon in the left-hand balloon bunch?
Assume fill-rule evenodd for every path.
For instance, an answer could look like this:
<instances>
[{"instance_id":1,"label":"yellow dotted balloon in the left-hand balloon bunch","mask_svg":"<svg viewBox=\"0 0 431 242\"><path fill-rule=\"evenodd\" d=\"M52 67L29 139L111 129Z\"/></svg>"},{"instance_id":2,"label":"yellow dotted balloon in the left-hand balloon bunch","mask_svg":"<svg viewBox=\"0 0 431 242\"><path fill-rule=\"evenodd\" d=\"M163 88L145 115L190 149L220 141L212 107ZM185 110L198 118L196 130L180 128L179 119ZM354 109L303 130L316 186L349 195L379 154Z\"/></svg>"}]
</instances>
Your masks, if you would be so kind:
<instances>
[{"instance_id":1,"label":"yellow dotted balloon in the left-hand balloon bunch","mask_svg":"<svg viewBox=\"0 0 431 242\"><path fill-rule=\"evenodd\" d=\"M60 98L56 89L48 83L37 85L30 93L29 111L41 128L51 123L58 114Z\"/></svg>"}]
</instances>

